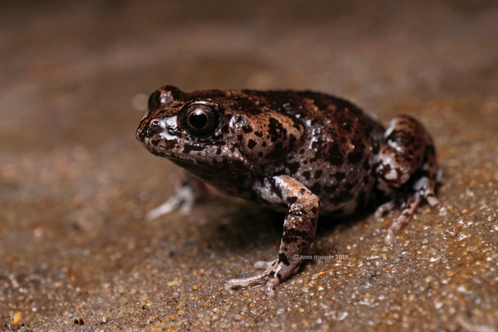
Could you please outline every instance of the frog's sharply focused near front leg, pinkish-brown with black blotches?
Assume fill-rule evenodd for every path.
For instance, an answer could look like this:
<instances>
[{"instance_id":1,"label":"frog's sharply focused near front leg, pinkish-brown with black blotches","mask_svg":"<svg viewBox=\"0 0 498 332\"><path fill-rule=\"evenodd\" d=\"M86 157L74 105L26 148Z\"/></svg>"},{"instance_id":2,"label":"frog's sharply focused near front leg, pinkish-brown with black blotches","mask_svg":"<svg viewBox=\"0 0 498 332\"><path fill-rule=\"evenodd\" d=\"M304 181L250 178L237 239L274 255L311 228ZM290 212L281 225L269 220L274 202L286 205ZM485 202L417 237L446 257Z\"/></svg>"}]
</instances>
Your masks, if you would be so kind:
<instances>
[{"instance_id":1,"label":"frog's sharply focused near front leg, pinkish-brown with black blotches","mask_svg":"<svg viewBox=\"0 0 498 332\"><path fill-rule=\"evenodd\" d=\"M315 236L321 202L318 196L288 175L274 176L255 189L263 200L272 204L285 203L289 207L278 259L258 275L229 280L225 289L266 284L266 294L273 297L273 287L297 273L302 261L301 254L310 247Z\"/></svg>"}]
</instances>

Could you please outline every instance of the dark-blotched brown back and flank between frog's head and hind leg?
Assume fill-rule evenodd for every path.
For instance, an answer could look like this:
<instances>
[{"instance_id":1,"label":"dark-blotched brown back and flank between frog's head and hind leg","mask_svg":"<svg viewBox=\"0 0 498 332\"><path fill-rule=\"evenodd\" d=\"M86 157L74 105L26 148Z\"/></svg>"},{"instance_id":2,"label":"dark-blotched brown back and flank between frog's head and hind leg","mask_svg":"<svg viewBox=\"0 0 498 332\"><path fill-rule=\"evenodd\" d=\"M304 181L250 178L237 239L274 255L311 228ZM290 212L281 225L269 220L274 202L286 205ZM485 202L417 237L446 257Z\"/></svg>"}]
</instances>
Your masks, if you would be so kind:
<instances>
[{"instance_id":1,"label":"dark-blotched brown back and flank between frog's head and hind leg","mask_svg":"<svg viewBox=\"0 0 498 332\"><path fill-rule=\"evenodd\" d=\"M284 113L304 126L300 144L276 169L316 194L323 212L348 215L367 203L384 131L380 123L354 104L321 93L243 93L259 108Z\"/></svg>"}]
</instances>

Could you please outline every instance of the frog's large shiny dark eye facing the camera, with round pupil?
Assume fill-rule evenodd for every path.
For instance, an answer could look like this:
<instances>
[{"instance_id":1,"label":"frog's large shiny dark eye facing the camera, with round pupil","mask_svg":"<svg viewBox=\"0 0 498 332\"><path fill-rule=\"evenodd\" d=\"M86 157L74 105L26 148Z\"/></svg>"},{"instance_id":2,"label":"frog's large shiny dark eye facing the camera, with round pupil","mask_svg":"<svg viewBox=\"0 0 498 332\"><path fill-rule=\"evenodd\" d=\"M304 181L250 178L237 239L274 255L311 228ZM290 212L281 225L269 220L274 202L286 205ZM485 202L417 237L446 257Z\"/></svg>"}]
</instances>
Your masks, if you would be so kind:
<instances>
[{"instance_id":1,"label":"frog's large shiny dark eye facing the camera, with round pupil","mask_svg":"<svg viewBox=\"0 0 498 332\"><path fill-rule=\"evenodd\" d=\"M195 102L183 109L180 117L183 127L189 134L197 137L209 136L215 132L220 124L218 106L209 102Z\"/></svg>"}]
</instances>

